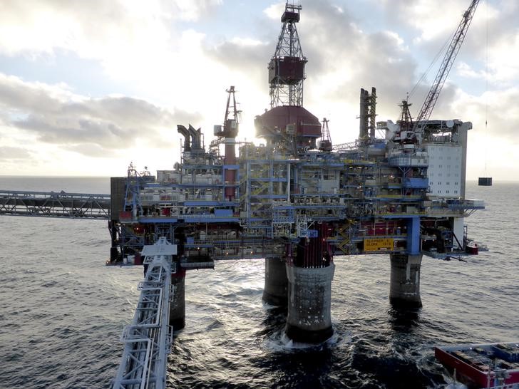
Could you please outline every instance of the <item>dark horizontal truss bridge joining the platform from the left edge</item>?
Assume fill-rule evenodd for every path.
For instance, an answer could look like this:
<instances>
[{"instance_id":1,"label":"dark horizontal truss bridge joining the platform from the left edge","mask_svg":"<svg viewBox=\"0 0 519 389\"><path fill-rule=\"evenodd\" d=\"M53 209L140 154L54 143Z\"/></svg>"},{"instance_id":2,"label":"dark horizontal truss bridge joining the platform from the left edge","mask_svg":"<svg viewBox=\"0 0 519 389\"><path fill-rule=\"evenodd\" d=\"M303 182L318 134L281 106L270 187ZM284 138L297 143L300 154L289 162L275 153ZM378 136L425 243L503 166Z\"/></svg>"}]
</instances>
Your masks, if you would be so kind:
<instances>
[{"instance_id":1,"label":"dark horizontal truss bridge joining the platform from the left edge","mask_svg":"<svg viewBox=\"0 0 519 389\"><path fill-rule=\"evenodd\" d=\"M109 219L110 194L0 190L0 214Z\"/></svg>"}]
</instances>

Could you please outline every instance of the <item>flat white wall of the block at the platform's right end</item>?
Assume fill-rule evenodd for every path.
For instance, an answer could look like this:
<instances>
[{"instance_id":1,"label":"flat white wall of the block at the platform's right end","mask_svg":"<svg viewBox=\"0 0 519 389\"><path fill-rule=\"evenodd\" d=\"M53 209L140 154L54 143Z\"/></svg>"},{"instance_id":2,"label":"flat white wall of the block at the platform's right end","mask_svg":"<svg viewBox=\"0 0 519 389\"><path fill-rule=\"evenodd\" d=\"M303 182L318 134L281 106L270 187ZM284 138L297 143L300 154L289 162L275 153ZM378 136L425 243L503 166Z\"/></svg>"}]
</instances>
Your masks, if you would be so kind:
<instances>
[{"instance_id":1,"label":"flat white wall of the block at the platform's right end","mask_svg":"<svg viewBox=\"0 0 519 389\"><path fill-rule=\"evenodd\" d=\"M429 155L427 177L430 195L440 197L462 196L463 150L452 143L431 143L426 146Z\"/></svg>"}]
</instances>

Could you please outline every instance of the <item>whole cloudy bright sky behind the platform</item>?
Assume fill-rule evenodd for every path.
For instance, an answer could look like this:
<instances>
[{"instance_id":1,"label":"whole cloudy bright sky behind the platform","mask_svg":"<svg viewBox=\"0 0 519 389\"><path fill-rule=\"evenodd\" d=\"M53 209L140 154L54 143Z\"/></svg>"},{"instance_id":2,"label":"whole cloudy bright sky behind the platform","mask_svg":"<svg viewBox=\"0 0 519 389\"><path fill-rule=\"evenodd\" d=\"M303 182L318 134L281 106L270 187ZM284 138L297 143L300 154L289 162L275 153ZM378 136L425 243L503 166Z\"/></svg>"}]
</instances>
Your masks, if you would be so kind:
<instances>
[{"instance_id":1,"label":"whole cloudy bright sky behind the platform","mask_svg":"<svg viewBox=\"0 0 519 389\"><path fill-rule=\"evenodd\" d=\"M304 107L329 119L341 143L358 136L360 88L376 88L377 120L396 121L411 90L418 113L439 61L427 69L470 1L298 4ZM253 140L283 9L267 0L0 1L0 175L172 169L176 126L202 128L208 146L230 85L239 138ZM519 180L518 101L519 1L482 0L431 115L473 123L468 180Z\"/></svg>"}]
</instances>

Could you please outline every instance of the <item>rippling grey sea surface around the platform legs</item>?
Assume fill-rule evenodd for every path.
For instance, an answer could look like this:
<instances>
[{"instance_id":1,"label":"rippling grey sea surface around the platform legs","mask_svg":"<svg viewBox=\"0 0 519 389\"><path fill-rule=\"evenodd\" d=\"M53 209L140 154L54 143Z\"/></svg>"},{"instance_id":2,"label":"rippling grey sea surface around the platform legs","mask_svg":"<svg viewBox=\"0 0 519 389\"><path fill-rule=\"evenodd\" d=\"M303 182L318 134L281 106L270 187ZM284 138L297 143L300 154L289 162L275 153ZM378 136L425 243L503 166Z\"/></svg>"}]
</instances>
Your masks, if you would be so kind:
<instances>
[{"instance_id":1,"label":"rippling grey sea surface around the platform legs","mask_svg":"<svg viewBox=\"0 0 519 389\"><path fill-rule=\"evenodd\" d=\"M0 190L109 193L108 178L0 177ZM389 305L389 256L335 257L334 336L283 335L262 303L264 261L220 261L186 277L186 326L169 356L170 388L444 388L433 356L448 343L519 339L519 182L478 187L466 219L490 251L468 262L423 258L418 311ZM142 268L104 266L107 223L0 216L0 388L110 388Z\"/></svg>"}]
</instances>

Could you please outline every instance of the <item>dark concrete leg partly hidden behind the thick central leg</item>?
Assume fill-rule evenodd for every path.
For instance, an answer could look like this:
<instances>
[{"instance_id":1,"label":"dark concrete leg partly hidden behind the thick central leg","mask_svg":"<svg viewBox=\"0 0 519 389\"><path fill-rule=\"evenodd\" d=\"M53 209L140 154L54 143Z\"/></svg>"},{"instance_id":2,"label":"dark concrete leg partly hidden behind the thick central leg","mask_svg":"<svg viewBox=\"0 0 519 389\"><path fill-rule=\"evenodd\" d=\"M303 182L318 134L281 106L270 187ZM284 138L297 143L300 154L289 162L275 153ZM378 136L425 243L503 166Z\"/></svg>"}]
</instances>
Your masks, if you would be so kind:
<instances>
[{"instance_id":1,"label":"dark concrete leg partly hidden behind the thick central leg","mask_svg":"<svg viewBox=\"0 0 519 389\"><path fill-rule=\"evenodd\" d=\"M265 259L265 286L263 301L274 306L287 306L288 279L286 261L282 258Z\"/></svg>"}]
</instances>

